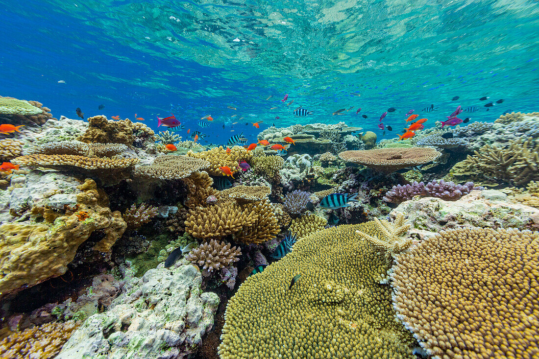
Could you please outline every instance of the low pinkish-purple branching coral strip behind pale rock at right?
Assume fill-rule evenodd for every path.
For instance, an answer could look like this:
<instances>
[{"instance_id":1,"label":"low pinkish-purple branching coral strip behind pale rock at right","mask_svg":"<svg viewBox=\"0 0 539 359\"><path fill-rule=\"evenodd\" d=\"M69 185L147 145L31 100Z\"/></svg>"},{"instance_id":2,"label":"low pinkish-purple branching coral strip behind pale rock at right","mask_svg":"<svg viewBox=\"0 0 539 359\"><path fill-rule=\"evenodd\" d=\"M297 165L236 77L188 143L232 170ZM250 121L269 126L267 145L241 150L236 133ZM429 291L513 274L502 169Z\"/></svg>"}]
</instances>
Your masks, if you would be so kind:
<instances>
[{"instance_id":1,"label":"low pinkish-purple branching coral strip behind pale rock at right","mask_svg":"<svg viewBox=\"0 0 539 359\"><path fill-rule=\"evenodd\" d=\"M431 181L427 184L423 182L412 182L411 184L396 185L386 192L383 200L391 203L401 203L412 199L414 196L438 197L445 201L457 201L460 197L469 194L472 190L483 190L483 187L474 187L473 182L456 184L445 182L443 179Z\"/></svg>"}]
</instances>

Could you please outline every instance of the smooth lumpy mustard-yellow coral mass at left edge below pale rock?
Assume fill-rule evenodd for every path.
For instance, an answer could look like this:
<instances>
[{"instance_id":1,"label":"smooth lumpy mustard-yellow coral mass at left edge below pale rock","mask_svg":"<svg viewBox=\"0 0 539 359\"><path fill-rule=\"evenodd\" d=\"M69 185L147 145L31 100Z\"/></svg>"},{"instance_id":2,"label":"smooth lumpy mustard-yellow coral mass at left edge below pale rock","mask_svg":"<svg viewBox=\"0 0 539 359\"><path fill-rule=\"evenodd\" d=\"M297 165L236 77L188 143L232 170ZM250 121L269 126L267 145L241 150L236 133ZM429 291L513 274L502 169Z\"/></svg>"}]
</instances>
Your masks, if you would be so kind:
<instances>
[{"instance_id":1,"label":"smooth lumpy mustard-yellow coral mass at left edge below pale rock","mask_svg":"<svg viewBox=\"0 0 539 359\"><path fill-rule=\"evenodd\" d=\"M126 230L119 211L105 205L106 195L92 179L77 187L77 212L66 213L54 223L4 223L0 225L0 295L36 285L67 271L81 243L95 230L103 238L94 250L108 252ZM85 216L80 215L84 212ZM87 215L87 216L86 216Z\"/></svg>"}]
</instances>

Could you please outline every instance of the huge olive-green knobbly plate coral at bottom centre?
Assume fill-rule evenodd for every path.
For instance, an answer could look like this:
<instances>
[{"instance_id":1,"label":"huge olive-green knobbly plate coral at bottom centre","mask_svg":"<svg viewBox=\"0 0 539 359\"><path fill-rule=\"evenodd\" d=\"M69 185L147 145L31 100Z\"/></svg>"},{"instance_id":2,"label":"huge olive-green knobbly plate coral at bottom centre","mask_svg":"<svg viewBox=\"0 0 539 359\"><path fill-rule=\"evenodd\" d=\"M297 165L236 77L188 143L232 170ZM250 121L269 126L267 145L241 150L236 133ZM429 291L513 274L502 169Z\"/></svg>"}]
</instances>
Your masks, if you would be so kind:
<instances>
[{"instance_id":1,"label":"huge olive-green knobbly plate coral at bottom centre","mask_svg":"<svg viewBox=\"0 0 539 359\"><path fill-rule=\"evenodd\" d=\"M356 230L374 234L368 224L317 232L247 278L226 307L220 358L415 358L379 282L392 260Z\"/></svg>"}]
</instances>

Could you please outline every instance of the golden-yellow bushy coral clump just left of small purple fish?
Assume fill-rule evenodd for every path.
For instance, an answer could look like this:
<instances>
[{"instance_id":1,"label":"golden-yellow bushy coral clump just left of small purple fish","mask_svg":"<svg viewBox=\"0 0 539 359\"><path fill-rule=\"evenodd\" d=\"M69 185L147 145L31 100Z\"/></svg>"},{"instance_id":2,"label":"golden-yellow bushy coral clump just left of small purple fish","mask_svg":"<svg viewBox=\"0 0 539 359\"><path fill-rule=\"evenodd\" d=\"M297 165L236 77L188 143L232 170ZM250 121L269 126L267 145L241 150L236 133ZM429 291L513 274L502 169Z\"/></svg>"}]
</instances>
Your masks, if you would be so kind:
<instances>
[{"instance_id":1,"label":"golden-yellow bushy coral clump just left of small purple fish","mask_svg":"<svg viewBox=\"0 0 539 359\"><path fill-rule=\"evenodd\" d=\"M206 171L212 176L222 176L223 172L219 167L227 166L232 170L238 167L240 161L246 161L251 163L253 154L247 152L247 150L241 146L233 146L230 149L230 153L226 153L226 149L223 149L223 146L214 147L208 151L202 151L194 153L189 151L186 156L201 158L209 162Z\"/></svg>"}]
</instances>

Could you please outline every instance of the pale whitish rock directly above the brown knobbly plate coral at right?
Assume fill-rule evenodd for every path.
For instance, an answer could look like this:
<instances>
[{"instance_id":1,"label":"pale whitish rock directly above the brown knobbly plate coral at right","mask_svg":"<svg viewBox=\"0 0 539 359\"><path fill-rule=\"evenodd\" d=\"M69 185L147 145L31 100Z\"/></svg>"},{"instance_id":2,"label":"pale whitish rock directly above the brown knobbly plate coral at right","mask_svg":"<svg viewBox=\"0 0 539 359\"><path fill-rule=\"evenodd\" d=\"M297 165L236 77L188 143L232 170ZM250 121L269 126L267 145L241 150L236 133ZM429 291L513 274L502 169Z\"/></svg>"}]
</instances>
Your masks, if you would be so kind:
<instances>
[{"instance_id":1,"label":"pale whitish rock directly above the brown knobbly plate coral at right","mask_svg":"<svg viewBox=\"0 0 539 359\"><path fill-rule=\"evenodd\" d=\"M502 192L495 192L499 191L473 190L458 201L414 197L399 204L389 216L404 213L412 233L420 239L433 237L441 230L462 227L539 229L539 209L510 203Z\"/></svg>"}]
</instances>

